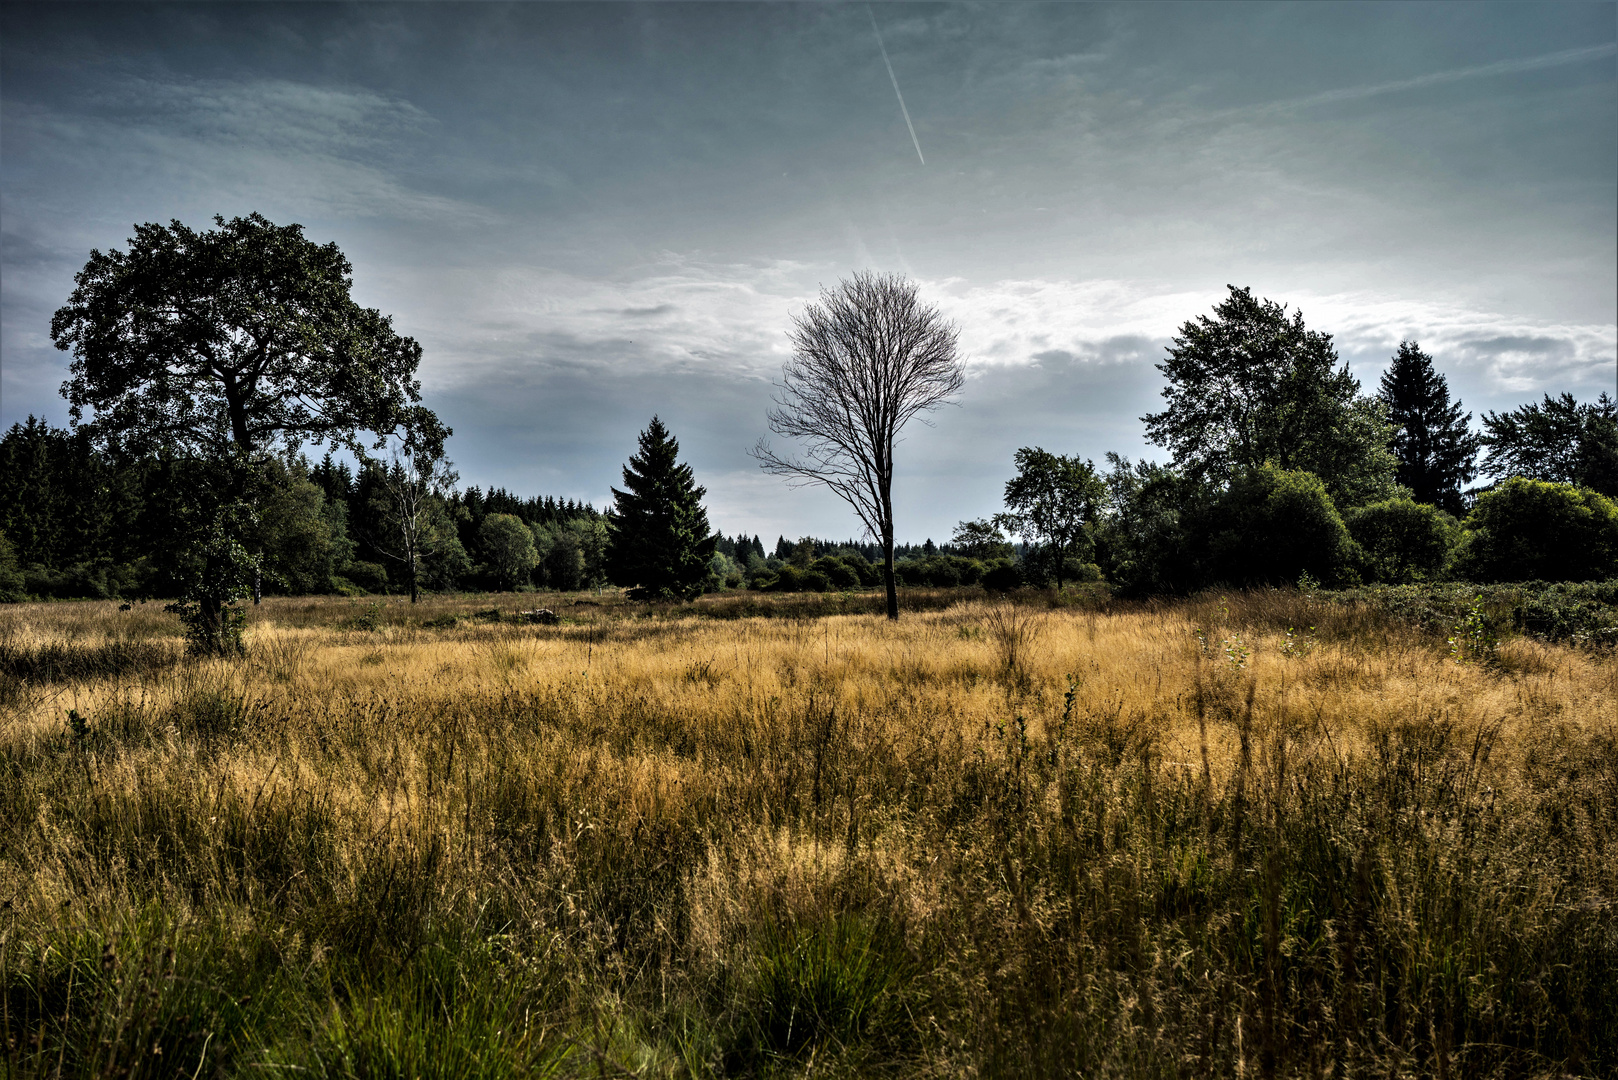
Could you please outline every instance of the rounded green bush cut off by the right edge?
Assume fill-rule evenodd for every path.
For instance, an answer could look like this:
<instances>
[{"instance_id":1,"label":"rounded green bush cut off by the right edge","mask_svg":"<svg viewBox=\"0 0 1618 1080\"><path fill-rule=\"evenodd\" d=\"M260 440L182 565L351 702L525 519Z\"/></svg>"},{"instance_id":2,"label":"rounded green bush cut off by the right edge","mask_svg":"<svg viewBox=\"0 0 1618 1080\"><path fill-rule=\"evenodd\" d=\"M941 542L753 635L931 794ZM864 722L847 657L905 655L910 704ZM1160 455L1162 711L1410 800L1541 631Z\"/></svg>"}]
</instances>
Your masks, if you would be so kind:
<instances>
[{"instance_id":1,"label":"rounded green bush cut off by the right edge","mask_svg":"<svg viewBox=\"0 0 1618 1080\"><path fill-rule=\"evenodd\" d=\"M1590 581L1618 572L1618 505L1587 487L1508 479L1477 497L1455 576Z\"/></svg>"}]
</instances>

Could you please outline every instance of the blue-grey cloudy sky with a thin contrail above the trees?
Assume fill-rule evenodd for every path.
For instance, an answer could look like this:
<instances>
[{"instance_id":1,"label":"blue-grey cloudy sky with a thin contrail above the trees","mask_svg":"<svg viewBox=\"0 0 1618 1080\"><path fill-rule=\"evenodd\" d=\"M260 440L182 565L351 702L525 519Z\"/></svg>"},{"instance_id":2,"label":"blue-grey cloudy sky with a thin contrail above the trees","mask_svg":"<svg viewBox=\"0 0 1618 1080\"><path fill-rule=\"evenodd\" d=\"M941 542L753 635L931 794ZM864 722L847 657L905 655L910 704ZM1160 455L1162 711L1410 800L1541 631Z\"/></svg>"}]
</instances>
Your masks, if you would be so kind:
<instances>
[{"instance_id":1,"label":"blue-grey cloudy sky with a thin contrail above the trees","mask_svg":"<svg viewBox=\"0 0 1618 1080\"><path fill-rule=\"evenodd\" d=\"M968 371L898 450L942 542L1018 447L1162 460L1228 285L1367 392L1401 340L1476 415L1618 389L1618 5L5 3L0 426L66 423L91 249L252 210L421 342L463 486L604 507L655 413L767 546L859 534L748 455L791 317L903 274Z\"/></svg>"}]
</instances>

